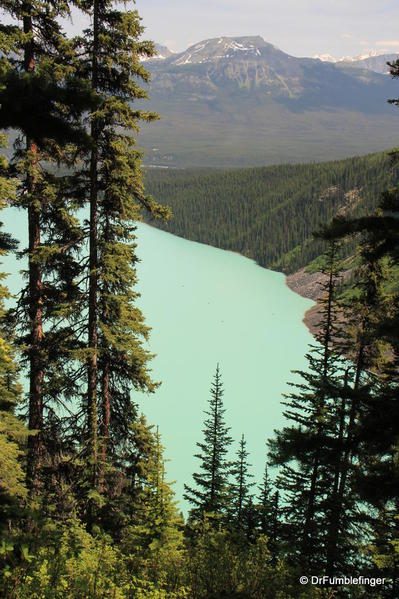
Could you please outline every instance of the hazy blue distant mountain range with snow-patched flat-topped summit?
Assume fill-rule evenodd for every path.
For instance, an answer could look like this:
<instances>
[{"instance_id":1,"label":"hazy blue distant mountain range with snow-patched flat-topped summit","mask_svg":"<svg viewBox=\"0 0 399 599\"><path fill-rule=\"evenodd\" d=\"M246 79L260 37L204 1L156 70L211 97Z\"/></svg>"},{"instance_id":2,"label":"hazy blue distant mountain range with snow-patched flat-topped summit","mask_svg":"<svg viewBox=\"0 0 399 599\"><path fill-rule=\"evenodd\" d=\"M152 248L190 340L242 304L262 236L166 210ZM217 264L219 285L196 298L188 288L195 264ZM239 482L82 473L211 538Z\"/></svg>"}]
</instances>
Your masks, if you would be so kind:
<instances>
[{"instance_id":1,"label":"hazy blue distant mountain range with snow-patched flat-topped summit","mask_svg":"<svg viewBox=\"0 0 399 599\"><path fill-rule=\"evenodd\" d=\"M327 160L399 141L399 112L387 104L399 85L383 74L392 55L296 58L259 36L158 52L146 66L161 121L141 137L153 166Z\"/></svg>"}]
</instances>

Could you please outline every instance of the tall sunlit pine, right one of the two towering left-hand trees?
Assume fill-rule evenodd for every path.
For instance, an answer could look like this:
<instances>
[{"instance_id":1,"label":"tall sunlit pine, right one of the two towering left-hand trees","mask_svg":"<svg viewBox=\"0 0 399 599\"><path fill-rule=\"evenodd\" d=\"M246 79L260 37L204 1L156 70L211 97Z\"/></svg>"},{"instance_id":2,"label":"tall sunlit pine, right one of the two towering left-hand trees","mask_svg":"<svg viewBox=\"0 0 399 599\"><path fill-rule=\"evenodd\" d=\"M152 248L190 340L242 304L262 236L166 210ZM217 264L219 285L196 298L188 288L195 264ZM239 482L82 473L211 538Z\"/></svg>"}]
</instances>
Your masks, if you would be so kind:
<instances>
[{"instance_id":1,"label":"tall sunlit pine, right one of the two towering left-hand trees","mask_svg":"<svg viewBox=\"0 0 399 599\"><path fill-rule=\"evenodd\" d=\"M92 26L76 40L80 68L101 99L90 114L92 148L80 180L86 182L90 209L86 438L92 484L102 491L107 460L132 417L132 390L155 388L143 347L149 329L135 305L134 223L143 208L161 217L168 211L144 193L142 153L133 137L140 121L156 118L134 105L147 98L141 84L149 74L140 58L153 55L153 44L139 41L143 27L137 11L116 10L110 0L83 7Z\"/></svg>"}]
</instances>

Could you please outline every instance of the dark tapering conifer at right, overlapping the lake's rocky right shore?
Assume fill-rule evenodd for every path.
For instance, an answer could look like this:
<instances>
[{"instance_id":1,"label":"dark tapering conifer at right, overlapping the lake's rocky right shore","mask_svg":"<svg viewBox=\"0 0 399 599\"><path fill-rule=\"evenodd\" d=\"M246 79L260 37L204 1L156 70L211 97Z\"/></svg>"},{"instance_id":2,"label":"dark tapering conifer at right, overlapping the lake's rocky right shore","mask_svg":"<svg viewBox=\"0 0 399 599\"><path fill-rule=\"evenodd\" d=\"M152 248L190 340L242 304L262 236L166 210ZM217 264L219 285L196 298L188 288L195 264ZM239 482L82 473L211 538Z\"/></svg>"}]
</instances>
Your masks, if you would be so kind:
<instances>
[{"instance_id":1,"label":"dark tapering conifer at right, overlapping the lake's rocky right shore","mask_svg":"<svg viewBox=\"0 0 399 599\"><path fill-rule=\"evenodd\" d=\"M325 299L320 317L318 345L307 355L309 370L298 373L285 402L293 422L270 442L270 460L282 466L279 488L287 493L282 508L289 545L298 548L296 559L306 565L325 560L327 502L333 484L337 406L342 395L343 366L334 346L337 336L335 289L338 276L337 244L329 243L324 268ZM294 556L293 556L294 557Z\"/></svg>"}]
</instances>

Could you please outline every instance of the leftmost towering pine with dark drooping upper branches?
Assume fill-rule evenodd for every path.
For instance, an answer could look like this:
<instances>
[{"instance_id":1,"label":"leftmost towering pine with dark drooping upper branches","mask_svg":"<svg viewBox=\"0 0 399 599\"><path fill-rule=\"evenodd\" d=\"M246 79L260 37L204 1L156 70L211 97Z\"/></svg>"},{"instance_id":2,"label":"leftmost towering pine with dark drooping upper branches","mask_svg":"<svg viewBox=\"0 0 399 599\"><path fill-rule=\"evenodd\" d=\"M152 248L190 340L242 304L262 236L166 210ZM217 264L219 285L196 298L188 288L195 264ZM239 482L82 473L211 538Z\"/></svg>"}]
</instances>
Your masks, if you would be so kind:
<instances>
[{"instance_id":1,"label":"leftmost towering pine with dark drooping upper branches","mask_svg":"<svg viewBox=\"0 0 399 599\"><path fill-rule=\"evenodd\" d=\"M91 106L91 95L84 82L73 77L71 47L59 25L68 14L67 3L5 1L1 7L15 22L1 31L0 126L19 133L12 166L23 184L16 204L28 215L28 285L21 295L23 316L20 313L18 320L20 342L26 348L29 426L38 431L29 437L28 481L37 490L46 390L51 387L46 374L54 365L54 351L58 355L57 348L63 346L60 338L54 343L54 332L66 318L59 313L60 304L68 303L69 258L79 237L56 174L60 164L73 162L75 152L68 145L87 141L79 118ZM51 322L49 345L44 319Z\"/></svg>"}]
</instances>

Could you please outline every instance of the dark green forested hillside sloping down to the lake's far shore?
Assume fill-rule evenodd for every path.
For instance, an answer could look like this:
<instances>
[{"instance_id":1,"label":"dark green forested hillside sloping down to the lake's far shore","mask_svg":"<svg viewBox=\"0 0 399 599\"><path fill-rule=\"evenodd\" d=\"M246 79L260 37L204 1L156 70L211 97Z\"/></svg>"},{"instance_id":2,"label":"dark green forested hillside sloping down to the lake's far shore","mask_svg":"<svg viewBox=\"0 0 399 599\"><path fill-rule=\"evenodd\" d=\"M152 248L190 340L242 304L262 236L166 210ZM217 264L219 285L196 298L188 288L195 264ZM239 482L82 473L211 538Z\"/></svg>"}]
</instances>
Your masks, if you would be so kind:
<instances>
[{"instance_id":1,"label":"dark green forested hillside sloping down to the lake's far shore","mask_svg":"<svg viewBox=\"0 0 399 599\"><path fill-rule=\"evenodd\" d=\"M173 211L166 225L156 226L284 272L320 255L323 243L312 234L322 224L373 210L396 177L387 153L228 171L146 171L148 191Z\"/></svg>"}]
</instances>

